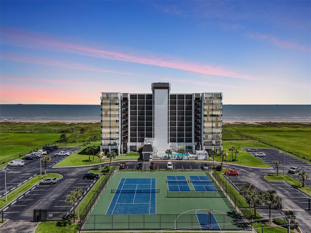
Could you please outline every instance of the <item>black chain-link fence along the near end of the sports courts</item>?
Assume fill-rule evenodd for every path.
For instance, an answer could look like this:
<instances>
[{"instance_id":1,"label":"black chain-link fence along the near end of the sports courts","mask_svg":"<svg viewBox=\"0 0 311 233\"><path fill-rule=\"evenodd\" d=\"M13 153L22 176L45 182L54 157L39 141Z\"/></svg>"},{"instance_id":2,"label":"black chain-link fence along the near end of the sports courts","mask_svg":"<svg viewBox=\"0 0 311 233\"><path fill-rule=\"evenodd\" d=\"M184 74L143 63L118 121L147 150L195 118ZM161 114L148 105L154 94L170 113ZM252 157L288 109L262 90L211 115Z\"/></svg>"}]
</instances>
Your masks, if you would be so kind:
<instances>
[{"instance_id":1,"label":"black chain-link fence along the near end of the sports courts","mask_svg":"<svg viewBox=\"0 0 311 233\"><path fill-rule=\"evenodd\" d=\"M205 213L205 212L204 212ZM196 214L87 215L83 231L144 231L144 230L249 230L241 214L217 214L212 221L198 222Z\"/></svg>"}]
</instances>

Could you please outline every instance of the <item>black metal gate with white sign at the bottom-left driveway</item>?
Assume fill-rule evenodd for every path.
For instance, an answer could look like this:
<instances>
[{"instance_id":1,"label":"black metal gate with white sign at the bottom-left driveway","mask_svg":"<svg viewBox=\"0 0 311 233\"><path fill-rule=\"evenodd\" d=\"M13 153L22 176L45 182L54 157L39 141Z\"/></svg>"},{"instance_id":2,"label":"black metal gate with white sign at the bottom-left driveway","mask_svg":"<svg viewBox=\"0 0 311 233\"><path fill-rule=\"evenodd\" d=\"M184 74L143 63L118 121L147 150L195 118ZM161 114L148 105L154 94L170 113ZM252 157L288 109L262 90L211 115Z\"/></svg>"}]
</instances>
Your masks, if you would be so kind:
<instances>
[{"instance_id":1,"label":"black metal gate with white sign at the bottom-left driveway","mask_svg":"<svg viewBox=\"0 0 311 233\"><path fill-rule=\"evenodd\" d=\"M34 222L71 220L72 210L34 209Z\"/></svg>"}]
</instances>

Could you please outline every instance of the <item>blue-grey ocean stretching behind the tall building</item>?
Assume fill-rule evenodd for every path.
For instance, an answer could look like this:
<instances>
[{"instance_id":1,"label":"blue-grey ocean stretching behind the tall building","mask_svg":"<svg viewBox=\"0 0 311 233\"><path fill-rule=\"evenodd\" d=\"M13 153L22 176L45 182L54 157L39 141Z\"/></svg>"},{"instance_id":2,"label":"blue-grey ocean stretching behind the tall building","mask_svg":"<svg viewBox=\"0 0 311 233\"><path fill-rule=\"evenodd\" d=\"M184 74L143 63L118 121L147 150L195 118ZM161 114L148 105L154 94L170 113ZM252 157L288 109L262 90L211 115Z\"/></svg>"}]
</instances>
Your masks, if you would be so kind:
<instances>
[{"instance_id":1,"label":"blue-grey ocean stretching behind the tall building","mask_svg":"<svg viewBox=\"0 0 311 233\"><path fill-rule=\"evenodd\" d=\"M100 105L1 104L0 119L100 120ZM311 120L311 105L223 105L223 120Z\"/></svg>"}]
</instances>

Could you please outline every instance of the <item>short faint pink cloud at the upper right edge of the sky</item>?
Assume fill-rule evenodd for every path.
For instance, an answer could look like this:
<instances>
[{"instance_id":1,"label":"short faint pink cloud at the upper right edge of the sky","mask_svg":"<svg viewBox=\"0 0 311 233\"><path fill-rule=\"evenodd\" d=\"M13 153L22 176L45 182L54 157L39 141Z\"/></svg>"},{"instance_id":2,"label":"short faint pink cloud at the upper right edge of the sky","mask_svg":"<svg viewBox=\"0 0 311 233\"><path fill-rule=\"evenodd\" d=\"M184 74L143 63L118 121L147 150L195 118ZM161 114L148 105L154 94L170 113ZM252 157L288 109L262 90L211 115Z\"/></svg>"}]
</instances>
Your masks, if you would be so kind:
<instances>
[{"instance_id":1,"label":"short faint pink cloud at the upper right edge of the sky","mask_svg":"<svg viewBox=\"0 0 311 233\"><path fill-rule=\"evenodd\" d=\"M248 38L252 38L252 39L260 39L260 40L264 40L267 41L269 43L272 43L278 47L282 47L282 48L289 48L289 49L293 49L293 50L298 50L301 52L310 52L311 48L308 46L304 46L301 44L298 44L296 42L293 41L289 41L289 40L280 40L278 38L276 38L273 35L268 35L268 34L245 34L246 37Z\"/></svg>"}]
</instances>

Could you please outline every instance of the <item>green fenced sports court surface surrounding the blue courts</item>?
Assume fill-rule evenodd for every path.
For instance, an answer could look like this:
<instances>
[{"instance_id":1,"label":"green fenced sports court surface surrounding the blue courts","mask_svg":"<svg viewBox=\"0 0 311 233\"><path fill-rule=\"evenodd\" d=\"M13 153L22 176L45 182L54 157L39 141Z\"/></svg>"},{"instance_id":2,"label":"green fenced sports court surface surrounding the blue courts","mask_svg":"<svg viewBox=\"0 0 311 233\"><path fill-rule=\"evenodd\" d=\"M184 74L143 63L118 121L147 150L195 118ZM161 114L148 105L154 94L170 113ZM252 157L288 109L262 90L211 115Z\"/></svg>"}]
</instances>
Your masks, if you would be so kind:
<instances>
[{"instance_id":1,"label":"green fenced sports court surface surrounding the blue courts","mask_svg":"<svg viewBox=\"0 0 311 233\"><path fill-rule=\"evenodd\" d=\"M166 181L167 176L185 176L187 180L190 180L187 184L189 185L191 191L179 192L181 195L168 195L170 192L168 192L169 183ZM211 176L207 172L115 172L99 201L95 205L95 208L92 210L91 215L87 216L87 220L83 225L82 230L118 231L202 229L215 231L221 229L234 231L249 229L246 224L238 223L239 221L244 221L244 217L235 211L234 207L220 191L216 183L213 183L213 185L215 185L215 189L218 190L216 192L196 192L189 176L208 176L209 179L212 180ZM154 205L155 203L155 214L135 214L137 213L137 209L134 208L133 214L131 213L132 205L128 203L128 200L134 195L126 191L123 194L124 196L121 198L120 193L122 193L122 191L112 191L115 189L124 189L124 185L122 185L124 183L124 179L122 178L126 178L128 180L134 180L133 178L155 178L156 189L160 189L160 192L158 192L158 190L156 193L153 193L154 195L149 196L150 199L151 197L156 196L155 202L147 200L148 198L142 200L137 197L135 199L134 197L134 199L132 199L133 204L138 202L143 204L150 203L151 205ZM128 187L131 188L131 185L128 185ZM153 186L152 188L155 187ZM194 193L197 193L197 195L193 195ZM204 193L204 195L202 193ZM124 212L130 214L106 215L107 210L113 209L114 211L116 203L121 206L124 203ZM118 206L118 208L119 207L120 206ZM143 207L142 205L142 208L150 207L146 205ZM110 213L114 213L113 211L110 211ZM142 212L144 211L145 210ZM118 209L118 212L123 212L122 208ZM109 213L109 211L107 213ZM198 219L201 220L199 221ZM212 220L209 221L209 219Z\"/></svg>"}]
</instances>

